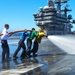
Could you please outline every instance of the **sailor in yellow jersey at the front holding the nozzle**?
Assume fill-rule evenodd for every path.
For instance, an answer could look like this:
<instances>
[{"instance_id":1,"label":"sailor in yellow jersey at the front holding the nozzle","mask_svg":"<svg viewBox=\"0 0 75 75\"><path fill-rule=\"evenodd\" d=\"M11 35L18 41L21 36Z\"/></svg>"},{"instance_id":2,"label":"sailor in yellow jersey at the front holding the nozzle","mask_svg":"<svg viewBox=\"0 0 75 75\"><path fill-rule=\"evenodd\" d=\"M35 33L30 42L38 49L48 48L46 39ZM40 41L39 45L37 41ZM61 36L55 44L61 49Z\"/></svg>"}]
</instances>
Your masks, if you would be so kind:
<instances>
[{"instance_id":1,"label":"sailor in yellow jersey at the front holding the nozzle","mask_svg":"<svg viewBox=\"0 0 75 75\"><path fill-rule=\"evenodd\" d=\"M41 43L41 40L43 37L47 36L46 34L46 31L39 29L38 30L38 36L35 38L35 41L34 41L34 46L33 46L33 49L30 51L30 53L33 53L33 57L37 56L37 51L38 51L38 48L39 48L39 43Z\"/></svg>"}]
</instances>

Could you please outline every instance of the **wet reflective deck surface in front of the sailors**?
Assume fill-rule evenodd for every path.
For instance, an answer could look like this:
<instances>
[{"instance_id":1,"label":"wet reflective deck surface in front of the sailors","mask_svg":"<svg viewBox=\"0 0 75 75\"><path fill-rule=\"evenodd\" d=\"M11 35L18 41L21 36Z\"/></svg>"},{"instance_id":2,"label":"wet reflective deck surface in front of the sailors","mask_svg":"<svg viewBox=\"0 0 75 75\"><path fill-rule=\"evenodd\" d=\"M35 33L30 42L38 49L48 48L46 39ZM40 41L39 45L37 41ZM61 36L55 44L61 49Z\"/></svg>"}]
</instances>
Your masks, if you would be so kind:
<instances>
[{"instance_id":1,"label":"wet reflective deck surface in front of the sailors","mask_svg":"<svg viewBox=\"0 0 75 75\"><path fill-rule=\"evenodd\" d=\"M75 75L75 54L67 54L47 38L39 45L37 57L0 60L0 64L0 75Z\"/></svg>"}]
</instances>

